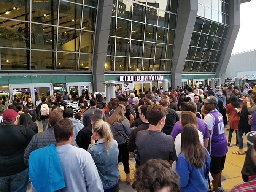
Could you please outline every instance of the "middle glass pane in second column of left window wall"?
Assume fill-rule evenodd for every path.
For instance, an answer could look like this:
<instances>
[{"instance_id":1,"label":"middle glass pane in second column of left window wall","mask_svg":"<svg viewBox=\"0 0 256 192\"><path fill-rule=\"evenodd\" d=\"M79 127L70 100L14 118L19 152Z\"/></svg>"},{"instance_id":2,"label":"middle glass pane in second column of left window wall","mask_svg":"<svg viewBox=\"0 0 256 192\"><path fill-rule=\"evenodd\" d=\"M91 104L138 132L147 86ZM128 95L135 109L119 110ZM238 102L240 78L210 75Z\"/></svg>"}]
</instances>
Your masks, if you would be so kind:
<instances>
[{"instance_id":1,"label":"middle glass pane in second column of left window wall","mask_svg":"<svg viewBox=\"0 0 256 192\"><path fill-rule=\"evenodd\" d=\"M31 28L32 49L56 50L57 27L32 23Z\"/></svg>"}]
</instances>

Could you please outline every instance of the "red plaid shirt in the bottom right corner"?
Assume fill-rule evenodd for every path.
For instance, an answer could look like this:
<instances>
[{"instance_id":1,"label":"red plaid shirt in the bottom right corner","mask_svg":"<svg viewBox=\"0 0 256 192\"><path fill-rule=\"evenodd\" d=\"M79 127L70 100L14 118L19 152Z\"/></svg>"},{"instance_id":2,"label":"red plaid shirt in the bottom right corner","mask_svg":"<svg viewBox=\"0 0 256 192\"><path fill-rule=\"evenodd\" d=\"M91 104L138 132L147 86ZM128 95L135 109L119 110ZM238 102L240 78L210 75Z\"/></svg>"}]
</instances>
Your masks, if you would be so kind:
<instances>
[{"instance_id":1,"label":"red plaid shirt in the bottom right corner","mask_svg":"<svg viewBox=\"0 0 256 192\"><path fill-rule=\"evenodd\" d=\"M253 192L256 191L256 175L250 176L248 182L243 182L233 187L230 192Z\"/></svg>"}]
</instances>

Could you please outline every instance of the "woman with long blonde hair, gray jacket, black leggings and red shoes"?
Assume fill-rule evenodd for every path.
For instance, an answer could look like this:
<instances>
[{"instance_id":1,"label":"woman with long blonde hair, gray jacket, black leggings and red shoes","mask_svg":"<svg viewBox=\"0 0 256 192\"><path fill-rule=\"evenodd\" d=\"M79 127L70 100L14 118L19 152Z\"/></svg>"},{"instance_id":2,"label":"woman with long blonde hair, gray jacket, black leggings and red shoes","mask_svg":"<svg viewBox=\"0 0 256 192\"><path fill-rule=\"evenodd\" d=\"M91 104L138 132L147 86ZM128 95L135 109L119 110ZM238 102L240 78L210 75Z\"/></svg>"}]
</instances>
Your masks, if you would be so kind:
<instances>
[{"instance_id":1,"label":"woman with long blonde hair, gray jacket, black leggings and red shoes","mask_svg":"<svg viewBox=\"0 0 256 192\"><path fill-rule=\"evenodd\" d=\"M126 184L130 185L130 167L129 167L129 150L127 148L127 141L129 140L132 129L130 128L130 122L124 114L126 108L124 105L119 105L114 113L108 118L108 123L114 135L114 139L118 143L119 156L118 163L122 157L122 163L124 165L124 173L126 174Z\"/></svg>"}]
</instances>

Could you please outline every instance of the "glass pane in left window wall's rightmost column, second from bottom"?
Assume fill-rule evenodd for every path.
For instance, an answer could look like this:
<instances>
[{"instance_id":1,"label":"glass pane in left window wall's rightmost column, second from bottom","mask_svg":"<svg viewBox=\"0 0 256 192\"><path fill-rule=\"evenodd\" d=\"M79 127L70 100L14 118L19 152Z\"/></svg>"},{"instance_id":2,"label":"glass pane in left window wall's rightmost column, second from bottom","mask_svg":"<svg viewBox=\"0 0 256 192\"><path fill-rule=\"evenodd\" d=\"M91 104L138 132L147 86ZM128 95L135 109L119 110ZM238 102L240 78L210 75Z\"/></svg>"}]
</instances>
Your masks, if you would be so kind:
<instances>
[{"instance_id":1,"label":"glass pane in left window wall's rightmost column, second from bottom","mask_svg":"<svg viewBox=\"0 0 256 192\"><path fill-rule=\"evenodd\" d=\"M94 32L82 31L80 43L80 52L92 53L94 45Z\"/></svg>"}]
</instances>

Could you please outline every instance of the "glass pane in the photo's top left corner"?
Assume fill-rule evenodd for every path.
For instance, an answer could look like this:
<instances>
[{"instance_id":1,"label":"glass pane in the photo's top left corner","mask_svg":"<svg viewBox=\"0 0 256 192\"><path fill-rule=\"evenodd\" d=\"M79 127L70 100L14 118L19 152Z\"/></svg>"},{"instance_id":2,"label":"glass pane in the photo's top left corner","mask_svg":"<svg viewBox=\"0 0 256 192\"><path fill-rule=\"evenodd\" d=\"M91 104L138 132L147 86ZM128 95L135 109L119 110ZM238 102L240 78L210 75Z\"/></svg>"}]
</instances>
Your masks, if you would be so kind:
<instances>
[{"instance_id":1,"label":"glass pane in the photo's top left corner","mask_svg":"<svg viewBox=\"0 0 256 192\"><path fill-rule=\"evenodd\" d=\"M0 15L10 19L30 21L30 0L1 0Z\"/></svg>"}]
</instances>

